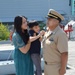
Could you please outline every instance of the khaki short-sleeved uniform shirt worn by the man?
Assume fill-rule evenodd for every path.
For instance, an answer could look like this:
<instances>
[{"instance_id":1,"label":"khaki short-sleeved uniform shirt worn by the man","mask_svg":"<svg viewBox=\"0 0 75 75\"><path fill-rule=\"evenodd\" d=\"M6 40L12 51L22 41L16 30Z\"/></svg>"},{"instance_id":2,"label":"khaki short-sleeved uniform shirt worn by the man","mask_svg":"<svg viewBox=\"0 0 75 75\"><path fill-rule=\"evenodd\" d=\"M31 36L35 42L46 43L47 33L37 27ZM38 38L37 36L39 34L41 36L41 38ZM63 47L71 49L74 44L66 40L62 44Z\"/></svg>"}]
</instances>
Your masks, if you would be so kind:
<instances>
[{"instance_id":1,"label":"khaki short-sleeved uniform shirt worn by the man","mask_svg":"<svg viewBox=\"0 0 75 75\"><path fill-rule=\"evenodd\" d=\"M68 52L68 38L66 33L57 26L54 31L48 31L43 40L44 60L49 63L61 62L61 53Z\"/></svg>"}]
</instances>

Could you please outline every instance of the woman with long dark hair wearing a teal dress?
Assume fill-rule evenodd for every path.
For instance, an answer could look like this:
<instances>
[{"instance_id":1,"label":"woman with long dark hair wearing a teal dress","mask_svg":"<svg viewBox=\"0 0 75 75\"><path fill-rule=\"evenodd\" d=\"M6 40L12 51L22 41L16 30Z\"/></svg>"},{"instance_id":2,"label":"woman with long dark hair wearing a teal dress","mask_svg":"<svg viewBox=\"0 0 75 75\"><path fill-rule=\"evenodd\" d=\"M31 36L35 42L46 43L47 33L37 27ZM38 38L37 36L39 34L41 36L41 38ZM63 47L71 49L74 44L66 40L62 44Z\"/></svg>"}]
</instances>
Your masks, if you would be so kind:
<instances>
[{"instance_id":1,"label":"woman with long dark hair wearing a teal dress","mask_svg":"<svg viewBox=\"0 0 75 75\"><path fill-rule=\"evenodd\" d=\"M15 32L12 35L14 44L14 64L16 75L34 75L33 62L29 54L30 39L28 34L27 18L16 16L14 19Z\"/></svg>"}]
</instances>

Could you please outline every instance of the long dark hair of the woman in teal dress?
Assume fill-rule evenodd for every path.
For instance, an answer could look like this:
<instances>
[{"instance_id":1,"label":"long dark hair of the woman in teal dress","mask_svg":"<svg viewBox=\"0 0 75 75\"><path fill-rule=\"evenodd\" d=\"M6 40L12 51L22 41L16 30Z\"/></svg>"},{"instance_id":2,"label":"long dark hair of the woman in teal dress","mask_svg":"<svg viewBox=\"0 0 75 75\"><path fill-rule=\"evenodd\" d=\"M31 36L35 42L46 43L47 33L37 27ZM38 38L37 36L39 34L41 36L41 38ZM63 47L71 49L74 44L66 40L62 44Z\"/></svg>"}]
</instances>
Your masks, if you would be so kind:
<instances>
[{"instance_id":1,"label":"long dark hair of the woman in teal dress","mask_svg":"<svg viewBox=\"0 0 75 75\"><path fill-rule=\"evenodd\" d=\"M16 16L14 19L14 28L16 30L16 32L21 36L21 38L23 39L24 43L27 44L29 41L29 34L28 34L28 30L24 30L24 32L22 32L22 19L23 17L25 19L27 19L25 16Z\"/></svg>"}]
</instances>

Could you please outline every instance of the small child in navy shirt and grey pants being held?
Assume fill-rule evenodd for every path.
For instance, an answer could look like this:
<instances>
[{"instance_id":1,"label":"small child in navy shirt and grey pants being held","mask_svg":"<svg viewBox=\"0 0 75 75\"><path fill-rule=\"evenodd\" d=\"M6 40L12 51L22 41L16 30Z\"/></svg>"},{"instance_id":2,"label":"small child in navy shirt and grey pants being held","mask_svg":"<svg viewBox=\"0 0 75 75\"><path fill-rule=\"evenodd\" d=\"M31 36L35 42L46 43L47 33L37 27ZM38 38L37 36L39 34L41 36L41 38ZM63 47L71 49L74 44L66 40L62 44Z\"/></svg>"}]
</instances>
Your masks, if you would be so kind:
<instances>
[{"instance_id":1,"label":"small child in navy shirt and grey pants being held","mask_svg":"<svg viewBox=\"0 0 75 75\"><path fill-rule=\"evenodd\" d=\"M40 27L37 21L30 21L28 26L30 29L29 34L31 41L30 55L36 67L36 75L42 75L40 51L42 40L41 36L44 35L44 31L40 31Z\"/></svg>"}]
</instances>

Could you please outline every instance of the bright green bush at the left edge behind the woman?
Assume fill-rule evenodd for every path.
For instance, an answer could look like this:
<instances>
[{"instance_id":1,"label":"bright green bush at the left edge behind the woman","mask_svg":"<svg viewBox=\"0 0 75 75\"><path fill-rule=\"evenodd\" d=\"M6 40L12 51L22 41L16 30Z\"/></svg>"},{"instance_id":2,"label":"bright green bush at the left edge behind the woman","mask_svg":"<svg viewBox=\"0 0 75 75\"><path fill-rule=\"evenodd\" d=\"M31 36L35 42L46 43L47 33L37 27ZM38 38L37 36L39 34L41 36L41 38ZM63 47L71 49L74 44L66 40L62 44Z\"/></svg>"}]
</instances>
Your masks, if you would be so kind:
<instances>
[{"instance_id":1,"label":"bright green bush at the left edge behind the woman","mask_svg":"<svg viewBox=\"0 0 75 75\"><path fill-rule=\"evenodd\" d=\"M7 40L9 38L9 30L7 28L7 25L3 25L0 23L0 41L1 40Z\"/></svg>"}]
</instances>

